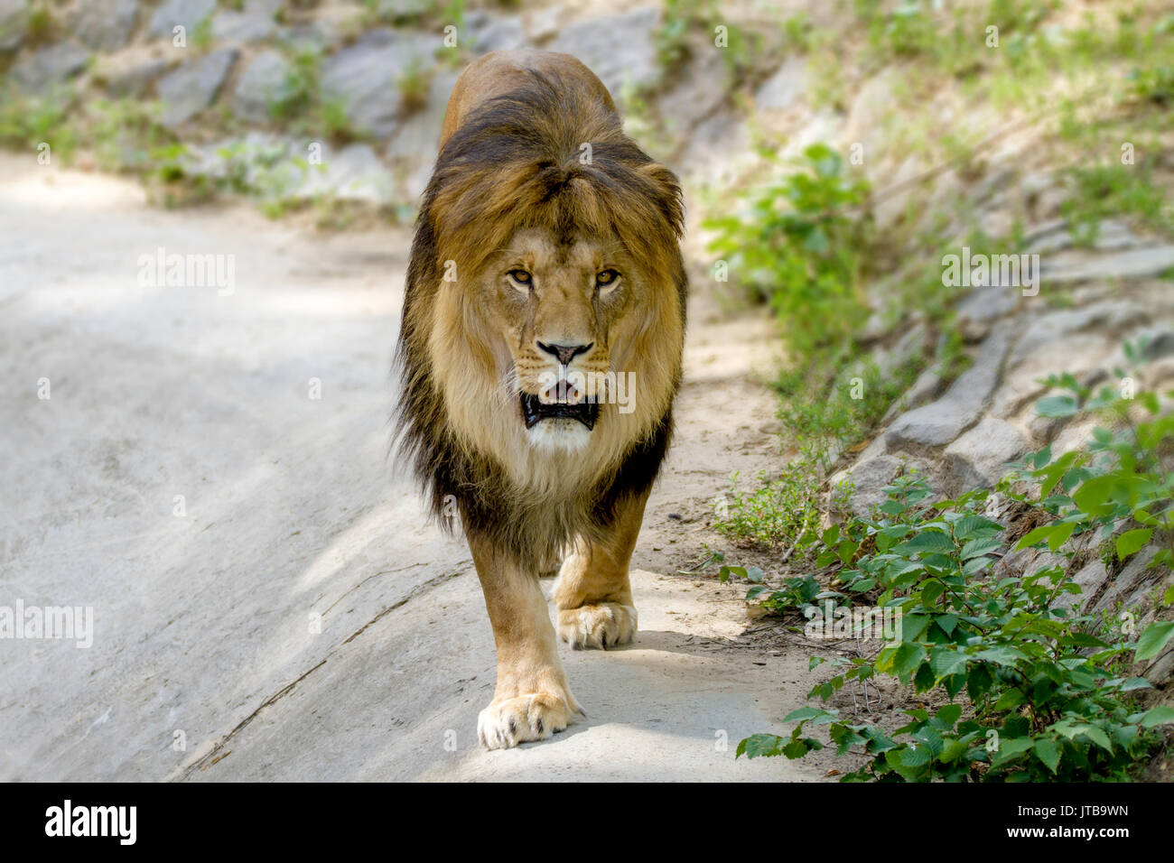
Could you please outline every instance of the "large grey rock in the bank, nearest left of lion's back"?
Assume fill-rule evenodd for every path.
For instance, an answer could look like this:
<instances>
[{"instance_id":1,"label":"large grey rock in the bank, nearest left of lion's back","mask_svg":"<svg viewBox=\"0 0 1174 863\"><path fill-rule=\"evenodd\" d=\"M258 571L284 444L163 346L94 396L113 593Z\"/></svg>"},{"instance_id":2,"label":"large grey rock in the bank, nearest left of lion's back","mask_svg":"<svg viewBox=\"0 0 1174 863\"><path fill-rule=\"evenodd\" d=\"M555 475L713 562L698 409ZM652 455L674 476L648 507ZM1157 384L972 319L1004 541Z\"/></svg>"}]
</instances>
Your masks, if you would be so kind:
<instances>
[{"instance_id":1,"label":"large grey rock in the bank, nearest left of lion's back","mask_svg":"<svg viewBox=\"0 0 1174 863\"><path fill-rule=\"evenodd\" d=\"M430 63L431 39L402 31L372 31L326 62L322 89L337 100L355 129L376 139L389 137L399 123L400 80Z\"/></svg>"}]
</instances>

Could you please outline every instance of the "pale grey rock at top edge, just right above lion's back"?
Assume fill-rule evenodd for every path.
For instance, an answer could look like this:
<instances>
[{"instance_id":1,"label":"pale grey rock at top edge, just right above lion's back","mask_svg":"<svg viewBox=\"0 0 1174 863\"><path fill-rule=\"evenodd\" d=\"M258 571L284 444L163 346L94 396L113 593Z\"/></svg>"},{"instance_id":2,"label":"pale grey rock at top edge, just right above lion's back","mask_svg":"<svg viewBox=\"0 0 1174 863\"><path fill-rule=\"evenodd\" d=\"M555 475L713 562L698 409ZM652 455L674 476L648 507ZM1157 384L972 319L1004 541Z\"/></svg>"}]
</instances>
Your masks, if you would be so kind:
<instances>
[{"instance_id":1,"label":"pale grey rock at top edge, just right above lion's back","mask_svg":"<svg viewBox=\"0 0 1174 863\"><path fill-rule=\"evenodd\" d=\"M582 60L618 100L626 81L645 88L660 80L654 41L660 21L660 9L653 7L580 21L562 31L549 49Z\"/></svg>"}]
</instances>

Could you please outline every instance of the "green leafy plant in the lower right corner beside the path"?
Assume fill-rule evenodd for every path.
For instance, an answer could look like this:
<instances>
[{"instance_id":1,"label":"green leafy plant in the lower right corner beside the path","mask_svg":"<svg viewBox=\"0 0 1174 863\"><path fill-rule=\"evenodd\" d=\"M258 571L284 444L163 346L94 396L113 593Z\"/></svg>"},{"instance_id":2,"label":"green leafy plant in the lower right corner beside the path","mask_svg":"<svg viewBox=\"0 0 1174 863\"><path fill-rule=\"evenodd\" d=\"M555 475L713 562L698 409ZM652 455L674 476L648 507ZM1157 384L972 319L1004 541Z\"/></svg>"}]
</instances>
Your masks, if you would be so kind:
<instances>
[{"instance_id":1,"label":"green leafy plant in the lower right corner beside the path","mask_svg":"<svg viewBox=\"0 0 1174 863\"><path fill-rule=\"evenodd\" d=\"M1128 345L1126 353L1135 359L1140 350ZM1066 392L1041 399L1041 413L1101 411L1120 431L1098 429L1087 452L1054 459L1047 449L1031 453L1000 481L999 494L1030 503L1046 519L1017 548L1046 544L1072 558L1071 540L1095 532L1115 535L1120 560L1160 540L1152 565L1169 567L1174 472L1166 460L1174 417L1162 416L1152 395L1121 398L1111 387L1094 395L1067 375L1048 383ZM1135 419L1139 410L1148 418ZM1025 480L1038 499L1016 491ZM807 707L787 717L797 722L790 735L753 735L737 754L802 757L825 746L809 729L828 726L837 754L869 756L844 776L849 782L1128 778L1156 744L1154 729L1174 722L1174 709L1139 708L1133 694L1149 683L1127 669L1166 649L1174 621L1151 625L1134 643L1102 615L1060 601L1080 594L1071 567L1017 574L999 565L1007 527L992 518L987 490L935 500L933 490L911 477L885 492L872 518L809 531L803 542L817 566L832 568L839 601L898 609L899 634L872 658L837 660L846 670L809 699L826 700L850 682L884 675L949 703L932 713L906 710L910 721L893 731Z\"/></svg>"}]
</instances>

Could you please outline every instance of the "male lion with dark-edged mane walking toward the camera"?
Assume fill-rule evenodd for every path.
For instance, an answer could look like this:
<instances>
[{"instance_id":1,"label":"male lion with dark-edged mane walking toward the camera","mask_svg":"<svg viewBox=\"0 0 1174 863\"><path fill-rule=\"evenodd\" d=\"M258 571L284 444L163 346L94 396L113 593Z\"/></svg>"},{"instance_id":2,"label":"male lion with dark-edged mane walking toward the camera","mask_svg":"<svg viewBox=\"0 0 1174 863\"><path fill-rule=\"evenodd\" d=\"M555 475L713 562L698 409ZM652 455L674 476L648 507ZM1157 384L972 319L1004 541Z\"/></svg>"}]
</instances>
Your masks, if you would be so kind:
<instances>
[{"instance_id":1,"label":"male lion with dark-edged mane walking toward the camera","mask_svg":"<svg viewBox=\"0 0 1174 863\"><path fill-rule=\"evenodd\" d=\"M561 560L573 647L635 633L628 562L681 378L682 217L676 177L574 58L494 52L458 79L407 269L399 430L485 593L491 749L582 713L540 573Z\"/></svg>"}]
</instances>

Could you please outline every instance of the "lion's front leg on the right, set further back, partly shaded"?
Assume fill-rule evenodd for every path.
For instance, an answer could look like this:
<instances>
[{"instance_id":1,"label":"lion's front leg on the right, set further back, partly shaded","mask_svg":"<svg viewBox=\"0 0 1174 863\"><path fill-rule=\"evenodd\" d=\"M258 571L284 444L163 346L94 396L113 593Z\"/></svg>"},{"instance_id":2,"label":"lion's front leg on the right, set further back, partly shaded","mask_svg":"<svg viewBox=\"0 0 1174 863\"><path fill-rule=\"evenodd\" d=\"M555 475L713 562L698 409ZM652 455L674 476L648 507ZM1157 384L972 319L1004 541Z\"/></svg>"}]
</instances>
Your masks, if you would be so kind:
<instances>
[{"instance_id":1,"label":"lion's front leg on the right, set further back, partly shaded","mask_svg":"<svg viewBox=\"0 0 1174 863\"><path fill-rule=\"evenodd\" d=\"M552 598L559 609L559 635L576 650L626 645L636 634L628 564L636 547L648 493L621 501L610 535L575 541L562 561Z\"/></svg>"}]
</instances>

